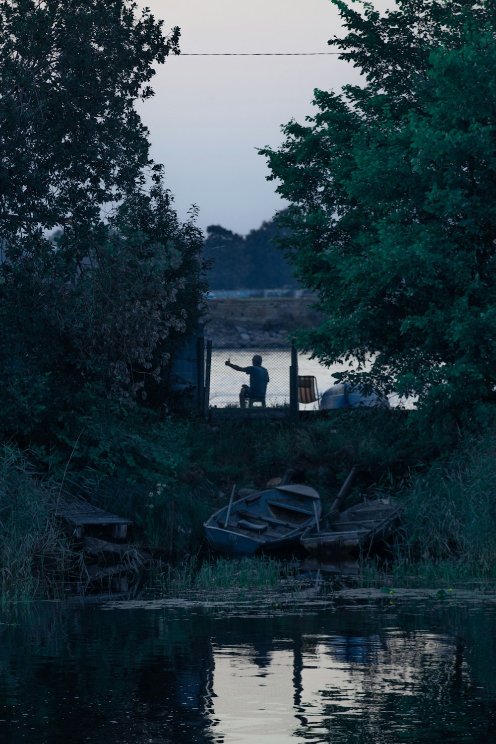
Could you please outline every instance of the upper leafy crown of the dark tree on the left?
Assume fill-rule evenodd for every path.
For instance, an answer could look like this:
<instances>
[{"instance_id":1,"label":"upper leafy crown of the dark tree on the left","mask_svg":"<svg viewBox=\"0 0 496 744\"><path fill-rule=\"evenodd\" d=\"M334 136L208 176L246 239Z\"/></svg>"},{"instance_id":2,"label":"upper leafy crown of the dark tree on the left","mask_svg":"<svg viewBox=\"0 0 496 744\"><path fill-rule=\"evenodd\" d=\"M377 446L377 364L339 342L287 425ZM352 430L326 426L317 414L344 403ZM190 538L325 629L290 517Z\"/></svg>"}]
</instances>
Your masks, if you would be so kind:
<instances>
[{"instance_id":1,"label":"upper leafy crown of the dark tree on the left","mask_svg":"<svg viewBox=\"0 0 496 744\"><path fill-rule=\"evenodd\" d=\"M101 205L144 182L147 132L135 110L152 62L179 30L129 0L0 3L0 206L3 240L69 219L84 240ZM83 234L82 234L83 233Z\"/></svg>"}]
</instances>

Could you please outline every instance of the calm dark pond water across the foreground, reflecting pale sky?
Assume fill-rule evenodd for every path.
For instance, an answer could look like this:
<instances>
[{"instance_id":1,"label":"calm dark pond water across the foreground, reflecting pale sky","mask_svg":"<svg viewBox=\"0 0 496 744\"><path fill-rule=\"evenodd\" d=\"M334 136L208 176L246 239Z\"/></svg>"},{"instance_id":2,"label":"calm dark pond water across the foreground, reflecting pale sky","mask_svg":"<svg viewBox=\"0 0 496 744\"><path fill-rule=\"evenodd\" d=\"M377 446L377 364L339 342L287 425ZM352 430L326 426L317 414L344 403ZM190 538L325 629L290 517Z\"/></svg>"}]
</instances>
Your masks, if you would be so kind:
<instances>
[{"instance_id":1,"label":"calm dark pond water across the foreground, reflecting pale sky","mask_svg":"<svg viewBox=\"0 0 496 744\"><path fill-rule=\"evenodd\" d=\"M0 742L488 743L493 600L46 603L0 624Z\"/></svg>"}]
</instances>

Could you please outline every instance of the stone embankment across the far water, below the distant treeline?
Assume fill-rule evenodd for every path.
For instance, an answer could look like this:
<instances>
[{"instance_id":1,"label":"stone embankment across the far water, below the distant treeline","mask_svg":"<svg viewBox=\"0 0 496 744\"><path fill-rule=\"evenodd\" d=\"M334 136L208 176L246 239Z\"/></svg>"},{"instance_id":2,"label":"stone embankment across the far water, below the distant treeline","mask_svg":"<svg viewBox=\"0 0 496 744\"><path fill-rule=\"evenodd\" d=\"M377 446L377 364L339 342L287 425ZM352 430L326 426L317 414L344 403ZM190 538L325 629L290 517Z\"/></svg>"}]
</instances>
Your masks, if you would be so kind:
<instances>
[{"instance_id":1,"label":"stone embankment across the far water, below the distant treeline","mask_svg":"<svg viewBox=\"0 0 496 744\"><path fill-rule=\"evenodd\" d=\"M297 328L321 324L315 298L230 298L209 300L205 336L217 348L287 347Z\"/></svg>"}]
</instances>

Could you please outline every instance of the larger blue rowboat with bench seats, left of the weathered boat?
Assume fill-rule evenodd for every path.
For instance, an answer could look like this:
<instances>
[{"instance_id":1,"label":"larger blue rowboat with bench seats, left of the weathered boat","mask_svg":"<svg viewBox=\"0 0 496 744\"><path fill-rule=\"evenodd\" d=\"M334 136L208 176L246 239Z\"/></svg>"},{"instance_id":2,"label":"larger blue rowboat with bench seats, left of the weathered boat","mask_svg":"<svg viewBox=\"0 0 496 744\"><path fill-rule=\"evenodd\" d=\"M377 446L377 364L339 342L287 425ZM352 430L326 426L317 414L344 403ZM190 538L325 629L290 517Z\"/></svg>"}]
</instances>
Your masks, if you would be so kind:
<instances>
[{"instance_id":1,"label":"larger blue rowboat with bench seats, left of the weathered boat","mask_svg":"<svg viewBox=\"0 0 496 744\"><path fill-rule=\"evenodd\" d=\"M317 491L301 484L280 485L231 501L204 522L214 550L252 555L296 547L303 530L321 517Z\"/></svg>"}]
</instances>

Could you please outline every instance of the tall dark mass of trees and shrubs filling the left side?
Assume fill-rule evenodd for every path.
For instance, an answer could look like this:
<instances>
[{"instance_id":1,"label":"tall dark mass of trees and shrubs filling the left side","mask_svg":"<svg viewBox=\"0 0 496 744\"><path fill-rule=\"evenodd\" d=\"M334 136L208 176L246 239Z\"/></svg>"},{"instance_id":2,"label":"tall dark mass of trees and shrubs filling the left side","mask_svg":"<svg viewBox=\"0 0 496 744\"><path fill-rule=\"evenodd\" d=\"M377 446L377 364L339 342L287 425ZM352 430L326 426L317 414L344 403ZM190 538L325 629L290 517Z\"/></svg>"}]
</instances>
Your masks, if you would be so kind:
<instances>
[{"instance_id":1,"label":"tall dark mass of trees and shrubs filling the left side","mask_svg":"<svg viewBox=\"0 0 496 744\"><path fill-rule=\"evenodd\" d=\"M170 496L186 453L167 390L204 312L203 238L135 109L179 36L132 0L0 1L4 591L36 591L62 489L122 507L152 545L192 533Z\"/></svg>"}]
</instances>

